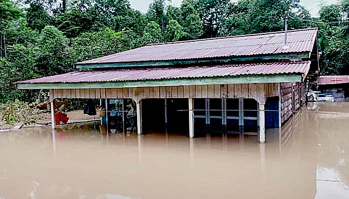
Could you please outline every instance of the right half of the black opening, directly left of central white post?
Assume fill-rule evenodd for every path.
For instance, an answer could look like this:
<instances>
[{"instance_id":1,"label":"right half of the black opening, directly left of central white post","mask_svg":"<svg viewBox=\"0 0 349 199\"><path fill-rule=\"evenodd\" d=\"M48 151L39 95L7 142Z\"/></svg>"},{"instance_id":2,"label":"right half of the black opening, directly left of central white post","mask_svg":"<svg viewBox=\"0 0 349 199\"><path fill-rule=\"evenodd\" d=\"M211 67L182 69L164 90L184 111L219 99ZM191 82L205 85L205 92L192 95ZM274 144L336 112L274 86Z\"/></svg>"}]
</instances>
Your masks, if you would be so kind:
<instances>
[{"instance_id":1,"label":"right half of the black opening, directly left of central white post","mask_svg":"<svg viewBox=\"0 0 349 199\"><path fill-rule=\"evenodd\" d=\"M189 126L188 99L167 99L168 133L187 134Z\"/></svg>"}]
</instances>

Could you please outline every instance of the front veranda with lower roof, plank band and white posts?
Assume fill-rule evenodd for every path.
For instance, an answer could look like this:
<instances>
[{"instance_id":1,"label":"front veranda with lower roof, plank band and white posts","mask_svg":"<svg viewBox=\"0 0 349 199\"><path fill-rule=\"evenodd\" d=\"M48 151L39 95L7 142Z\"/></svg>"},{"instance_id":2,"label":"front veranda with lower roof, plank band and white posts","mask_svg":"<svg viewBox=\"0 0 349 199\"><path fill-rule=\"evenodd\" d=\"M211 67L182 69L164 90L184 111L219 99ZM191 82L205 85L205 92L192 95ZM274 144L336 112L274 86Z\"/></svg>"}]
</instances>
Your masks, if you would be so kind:
<instances>
[{"instance_id":1,"label":"front veranda with lower roof, plank band and white posts","mask_svg":"<svg viewBox=\"0 0 349 199\"><path fill-rule=\"evenodd\" d=\"M281 127L281 84L304 81L310 63L282 62L276 66L276 74L269 75L258 74L263 65L245 66L251 71L245 76L232 71L238 66L224 68L229 76L219 76L221 67L197 68L206 75L215 70L214 77L204 78L201 74L192 78L183 77L188 73L175 75L177 69L173 68L72 72L19 82L17 87L49 89L52 107L57 98L101 99L106 110L111 100L133 100L139 135L180 126L179 131L185 131L189 138L202 132L243 133L258 135L259 142L265 142L266 127ZM134 78L137 74L142 78ZM155 74L158 79L149 78ZM172 77L165 78L169 74ZM122 78L129 80L117 81ZM51 115L54 121L53 111ZM154 126L158 128L150 128Z\"/></svg>"}]
</instances>

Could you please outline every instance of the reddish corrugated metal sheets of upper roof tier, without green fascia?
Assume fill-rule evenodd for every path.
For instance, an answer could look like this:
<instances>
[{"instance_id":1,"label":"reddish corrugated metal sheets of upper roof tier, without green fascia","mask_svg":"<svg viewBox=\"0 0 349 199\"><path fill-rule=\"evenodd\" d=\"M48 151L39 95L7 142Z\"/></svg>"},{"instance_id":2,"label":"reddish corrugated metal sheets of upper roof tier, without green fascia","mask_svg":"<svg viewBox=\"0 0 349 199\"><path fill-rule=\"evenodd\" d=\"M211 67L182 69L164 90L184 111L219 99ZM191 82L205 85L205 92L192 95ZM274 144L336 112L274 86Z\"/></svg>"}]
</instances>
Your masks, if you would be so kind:
<instances>
[{"instance_id":1,"label":"reddish corrugated metal sheets of upper roof tier, without green fascia","mask_svg":"<svg viewBox=\"0 0 349 199\"><path fill-rule=\"evenodd\" d=\"M291 30L284 47L284 32L218 37L181 42L146 45L92 60L77 63L125 63L144 61L190 60L231 56L256 56L311 52L317 35L317 28Z\"/></svg>"}]
</instances>

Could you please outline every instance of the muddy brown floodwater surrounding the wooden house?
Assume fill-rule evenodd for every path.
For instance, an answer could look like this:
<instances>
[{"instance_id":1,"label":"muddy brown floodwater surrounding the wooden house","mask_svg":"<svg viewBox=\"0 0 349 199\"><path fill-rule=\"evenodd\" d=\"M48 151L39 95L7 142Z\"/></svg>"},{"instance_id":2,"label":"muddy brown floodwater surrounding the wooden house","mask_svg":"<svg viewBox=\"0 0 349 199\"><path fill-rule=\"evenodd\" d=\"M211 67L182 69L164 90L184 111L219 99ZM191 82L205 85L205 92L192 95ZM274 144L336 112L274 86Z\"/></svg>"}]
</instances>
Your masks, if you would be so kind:
<instances>
[{"instance_id":1,"label":"muddy brown floodwater surrounding the wooden house","mask_svg":"<svg viewBox=\"0 0 349 199\"><path fill-rule=\"evenodd\" d=\"M309 103L266 144L68 129L0 134L0 199L349 198L349 103Z\"/></svg>"}]
</instances>

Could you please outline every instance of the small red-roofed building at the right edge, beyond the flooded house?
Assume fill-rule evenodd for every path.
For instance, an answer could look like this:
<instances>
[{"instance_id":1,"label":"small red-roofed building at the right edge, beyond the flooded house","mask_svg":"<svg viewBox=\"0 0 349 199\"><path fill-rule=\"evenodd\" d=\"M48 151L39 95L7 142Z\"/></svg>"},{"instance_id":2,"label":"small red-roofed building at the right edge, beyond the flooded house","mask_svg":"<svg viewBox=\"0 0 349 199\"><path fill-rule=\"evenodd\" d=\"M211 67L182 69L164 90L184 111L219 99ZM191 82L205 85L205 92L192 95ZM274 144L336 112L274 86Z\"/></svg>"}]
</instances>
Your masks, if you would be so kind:
<instances>
[{"instance_id":1,"label":"small red-roofed building at the right edge, beyond the flooded house","mask_svg":"<svg viewBox=\"0 0 349 199\"><path fill-rule=\"evenodd\" d=\"M319 77L319 90L331 94L336 101L345 101L349 98L349 76L322 75Z\"/></svg>"}]
</instances>

